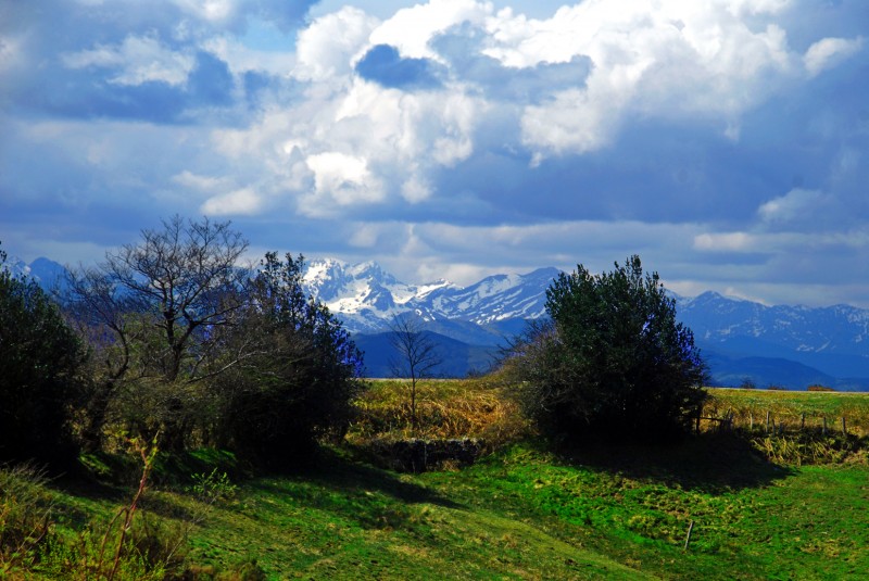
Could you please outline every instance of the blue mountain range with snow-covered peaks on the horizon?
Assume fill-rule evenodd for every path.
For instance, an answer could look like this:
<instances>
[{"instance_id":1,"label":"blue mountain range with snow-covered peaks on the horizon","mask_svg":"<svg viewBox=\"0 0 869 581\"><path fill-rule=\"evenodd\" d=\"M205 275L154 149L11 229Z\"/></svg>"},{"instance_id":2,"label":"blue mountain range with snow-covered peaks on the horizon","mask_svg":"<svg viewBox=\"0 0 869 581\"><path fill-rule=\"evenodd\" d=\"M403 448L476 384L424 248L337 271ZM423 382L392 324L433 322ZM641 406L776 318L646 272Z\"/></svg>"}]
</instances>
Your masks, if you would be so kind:
<instances>
[{"instance_id":1,"label":"blue mountain range with snow-covered peaks on the horizon","mask_svg":"<svg viewBox=\"0 0 869 581\"><path fill-rule=\"evenodd\" d=\"M11 258L5 266L46 286L62 281L63 266L48 258L29 265ZM488 370L529 319L545 316L545 292L558 273L550 267L494 275L468 287L446 280L410 285L374 262L325 258L306 263L304 285L353 334L369 377L391 375L390 325L408 315L418 317L438 344L443 364L436 372L455 377ZM673 296L679 320L692 329L709 364L713 384L869 390L867 310L767 306L715 292Z\"/></svg>"}]
</instances>

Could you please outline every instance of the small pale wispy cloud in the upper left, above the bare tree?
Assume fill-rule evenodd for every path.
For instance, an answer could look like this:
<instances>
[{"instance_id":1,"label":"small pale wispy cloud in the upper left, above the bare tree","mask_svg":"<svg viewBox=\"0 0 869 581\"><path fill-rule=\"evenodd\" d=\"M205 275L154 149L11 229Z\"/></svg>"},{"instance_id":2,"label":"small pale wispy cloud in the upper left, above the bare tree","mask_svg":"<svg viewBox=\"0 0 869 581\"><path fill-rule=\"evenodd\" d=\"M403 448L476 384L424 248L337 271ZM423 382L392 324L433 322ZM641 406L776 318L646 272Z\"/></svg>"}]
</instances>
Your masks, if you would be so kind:
<instances>
[{"instance_id":1,"label":"small pale wispy cloud in the upper left, above the bare tree","mask_svg":"<svg viewBox=\"0 0 869 581\"><path fill-rule=\"evenodd\" d=\"M192 71L192 55L164 47L154 35L127 36L118 46L101 46L62 55L68 68L115 68L119 72L109 79L117 85L141 85L163 81L181 85Z\"/></svg>"}]
</instances>

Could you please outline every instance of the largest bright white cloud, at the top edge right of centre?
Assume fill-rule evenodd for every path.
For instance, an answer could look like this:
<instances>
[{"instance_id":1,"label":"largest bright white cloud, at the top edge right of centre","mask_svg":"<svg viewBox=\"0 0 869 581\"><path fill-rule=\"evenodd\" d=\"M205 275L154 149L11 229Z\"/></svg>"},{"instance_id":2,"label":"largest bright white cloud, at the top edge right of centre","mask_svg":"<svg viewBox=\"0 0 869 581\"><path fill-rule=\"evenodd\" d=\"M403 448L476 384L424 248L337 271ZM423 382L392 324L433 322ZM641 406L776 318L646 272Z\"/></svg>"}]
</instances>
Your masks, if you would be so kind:
<instances>
[{"instance_id":1,"label":"largest bright white cloud, at the top edge right of centre","mask_svg":"<svg viewBox=\"0 0 869 581\"><path fill-rule=\"evenodd\" d=\"M632 113L722 117L732 138L738 116L774 90L794 60L783 29L768 24L755 30L742 15L769 15L784 5L587 0L545 21L502 11L488 23L484 52L517 68L591 59L588 79L526 108L522 140L538 153L600 149Z\"/></svg>"}]
</instances>

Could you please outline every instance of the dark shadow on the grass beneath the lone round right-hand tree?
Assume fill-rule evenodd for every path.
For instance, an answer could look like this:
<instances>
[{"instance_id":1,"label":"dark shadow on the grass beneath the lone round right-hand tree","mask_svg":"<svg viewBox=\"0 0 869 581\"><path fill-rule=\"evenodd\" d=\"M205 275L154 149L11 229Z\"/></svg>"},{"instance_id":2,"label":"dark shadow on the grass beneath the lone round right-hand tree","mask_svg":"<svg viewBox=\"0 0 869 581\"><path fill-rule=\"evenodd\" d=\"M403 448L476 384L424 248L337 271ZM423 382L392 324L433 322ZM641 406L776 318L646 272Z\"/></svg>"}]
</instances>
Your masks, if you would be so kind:
<instances>
[{"instance_id":1,"label":"dark shadow on the grass beneath the lone round right-hand tree","mask_svg":"<svg viewBox=\"0 0 869 581\"><path fill-rule=\"evenodd\" d=\"M571 464L711 494L769 485L794 473L738 432L706 432L675 444L593 444L563 451Z\"/></svg>"}]
</instances>

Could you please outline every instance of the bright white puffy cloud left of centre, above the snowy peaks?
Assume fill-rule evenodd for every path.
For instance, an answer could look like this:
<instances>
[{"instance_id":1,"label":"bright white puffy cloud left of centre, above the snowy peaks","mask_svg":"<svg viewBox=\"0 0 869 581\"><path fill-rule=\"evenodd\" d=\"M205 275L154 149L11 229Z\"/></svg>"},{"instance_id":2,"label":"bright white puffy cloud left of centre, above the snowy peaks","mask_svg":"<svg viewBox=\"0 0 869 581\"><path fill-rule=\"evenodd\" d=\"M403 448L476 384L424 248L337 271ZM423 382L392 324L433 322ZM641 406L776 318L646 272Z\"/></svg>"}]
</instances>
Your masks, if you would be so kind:
<instances>
[{"instance_id":1,"label":"bright white puffy cloud left of centre, above the snowy peaks","mask_svg":"<svg viewBox=\"0 0 869 581\"><path fill-rule=\"evenodd\" d=\"M276 193L295 197L306 216L396 197L419 203L434 193L433 170L474 151L479 98L405 93L358 77L333 91L330 83L312 84L303 101L274 105L247 129L215 131L215 147L280 181Z\"/></svg>"}]
</instances>

